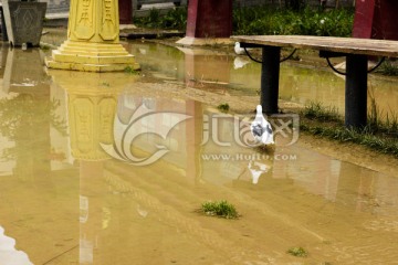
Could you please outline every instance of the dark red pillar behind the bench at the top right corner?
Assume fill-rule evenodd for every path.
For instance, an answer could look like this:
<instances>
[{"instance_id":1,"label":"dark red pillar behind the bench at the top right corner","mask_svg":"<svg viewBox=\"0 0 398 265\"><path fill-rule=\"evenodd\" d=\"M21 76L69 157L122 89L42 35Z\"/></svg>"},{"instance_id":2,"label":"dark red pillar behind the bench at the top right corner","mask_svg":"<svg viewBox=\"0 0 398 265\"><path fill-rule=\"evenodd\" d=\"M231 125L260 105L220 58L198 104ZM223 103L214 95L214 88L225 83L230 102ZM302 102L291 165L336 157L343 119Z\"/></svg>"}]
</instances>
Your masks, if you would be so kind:
<instances>
[{"instance_id":1,"label":"dark red pillar behind the bench at the top right corner","mask_svg":"<svg viewBox=\"0 0 398 265\"><path fill-rule=\"evenodd\" d=\"M355 4L354 38L398 40L398 1L357 0Z\"/></svg>"}]
</instances>

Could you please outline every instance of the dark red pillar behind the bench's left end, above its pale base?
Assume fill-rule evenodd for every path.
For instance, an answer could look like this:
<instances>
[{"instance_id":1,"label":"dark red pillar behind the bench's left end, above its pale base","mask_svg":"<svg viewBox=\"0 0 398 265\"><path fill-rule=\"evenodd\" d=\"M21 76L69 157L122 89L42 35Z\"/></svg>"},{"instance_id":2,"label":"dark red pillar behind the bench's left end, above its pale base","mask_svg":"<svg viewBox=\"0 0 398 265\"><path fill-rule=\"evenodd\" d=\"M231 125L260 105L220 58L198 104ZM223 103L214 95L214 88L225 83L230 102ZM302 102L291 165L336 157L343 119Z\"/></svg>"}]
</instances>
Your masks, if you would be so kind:
<instances>
[{"instance_id":1,"label":"dark red pillar behind the bench's left end, above its pale base","mask_svg":"<svg viewBox=\"0 0 398 265\"><path fill-rule=\"evenodd\" d=\"M189 0L187 36L229 38L232 34L232 0Z\"/></svg>"}]
</instances>

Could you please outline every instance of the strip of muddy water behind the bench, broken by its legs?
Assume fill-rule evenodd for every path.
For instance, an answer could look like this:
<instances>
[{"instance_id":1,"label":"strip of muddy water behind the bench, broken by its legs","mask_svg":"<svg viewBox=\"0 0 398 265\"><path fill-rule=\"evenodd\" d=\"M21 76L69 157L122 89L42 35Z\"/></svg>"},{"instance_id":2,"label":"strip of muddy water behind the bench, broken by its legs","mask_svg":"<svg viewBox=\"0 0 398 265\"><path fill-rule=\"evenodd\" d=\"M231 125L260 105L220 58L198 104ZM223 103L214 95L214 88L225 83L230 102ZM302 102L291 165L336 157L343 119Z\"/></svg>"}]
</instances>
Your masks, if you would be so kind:
<instances>
[{"instance_id":1,"label":"strip of muddy water behind the bench, broken by its legs","mask_svg":"<svg viewBox=\"0 0 398 265\"><path fill-rule=\"evenodd\" d=\"M128 50L146 68L157 76L185 81L197 88L219 84L220 93L256 95L260 91L261 65L247 56L229 56L200 49L179 50L161 44L133 43ZM282 63L280 98L307 105L311 102L332 106L344 114L344 77L328 68L296 66ZM398 85L396 80L369 75L368 102L375 98L383 115L397 113ZM227 86L228 89L223 89Z\"/></svg>"}]
</instances>

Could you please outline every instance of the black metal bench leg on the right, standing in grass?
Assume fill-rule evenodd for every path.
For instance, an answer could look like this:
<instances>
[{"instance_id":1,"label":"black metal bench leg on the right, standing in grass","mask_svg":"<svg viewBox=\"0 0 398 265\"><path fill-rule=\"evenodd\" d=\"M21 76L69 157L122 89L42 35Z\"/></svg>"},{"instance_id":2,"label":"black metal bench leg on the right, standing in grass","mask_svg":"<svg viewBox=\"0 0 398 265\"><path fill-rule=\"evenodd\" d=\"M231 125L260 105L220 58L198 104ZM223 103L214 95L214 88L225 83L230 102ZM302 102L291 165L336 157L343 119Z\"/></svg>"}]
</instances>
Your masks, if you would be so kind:
<instances>
[{"instance_id":1,"label":"black metal bench leg on the right, standing in grass","mask_svg":"<svg viewBox=\"0 0 398 265\"><path fill-rule=\"evenodd\" d=\"M367 119L367 56L347 55L345 126L363 128Z\"/></svg>"}]
</instances>

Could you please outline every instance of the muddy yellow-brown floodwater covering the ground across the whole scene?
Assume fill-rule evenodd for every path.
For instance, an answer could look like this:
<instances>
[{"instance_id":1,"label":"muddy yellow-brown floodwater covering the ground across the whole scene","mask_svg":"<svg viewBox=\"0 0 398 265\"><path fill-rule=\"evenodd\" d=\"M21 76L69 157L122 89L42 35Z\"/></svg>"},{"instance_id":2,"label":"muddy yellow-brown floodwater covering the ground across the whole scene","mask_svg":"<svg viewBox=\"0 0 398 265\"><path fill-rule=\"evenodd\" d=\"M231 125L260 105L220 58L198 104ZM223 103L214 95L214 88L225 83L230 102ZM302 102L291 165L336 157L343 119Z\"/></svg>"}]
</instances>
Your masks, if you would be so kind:
<instances>
[{"instance_id":1,"label":"muddy yellow-brown floodwater covering the ground across the whole scene","mask_svg":"<svg viewBox=\"0 0 398 265\"><path fill-rule=\"evenodd\" d=\"M272 117L276 148L259 152L252 113L192 99L255 104L254 64L126 46L146 76L45 71L41 51L1 47L0 264L397 263L398 176L308 148L294 115ZM334 74L282 75L283 99L342 106ZM370 83L396 106L396 83ZM241 216L198 213L209 200Z\"/></svg>"}]
</instances>

